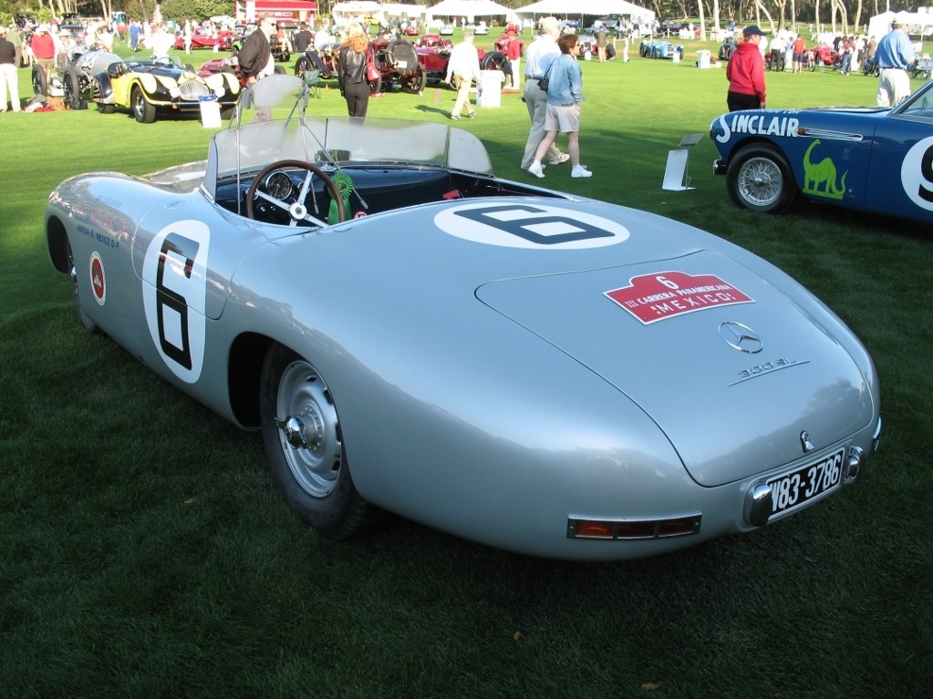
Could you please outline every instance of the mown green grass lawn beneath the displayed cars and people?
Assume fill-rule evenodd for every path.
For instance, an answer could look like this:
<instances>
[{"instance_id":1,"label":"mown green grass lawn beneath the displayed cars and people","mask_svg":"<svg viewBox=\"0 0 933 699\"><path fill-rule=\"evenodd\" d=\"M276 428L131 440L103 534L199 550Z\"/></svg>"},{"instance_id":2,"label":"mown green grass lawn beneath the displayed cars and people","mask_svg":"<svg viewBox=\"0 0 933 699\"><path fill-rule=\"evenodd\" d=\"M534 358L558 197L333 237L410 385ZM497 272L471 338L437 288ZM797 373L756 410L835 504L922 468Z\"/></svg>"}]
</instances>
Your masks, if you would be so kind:
<instances>
[{"instance_id":1,"label":"mown green grass lawn beneath the displayed cars and people","mask_svg":"<svg viewBox=\"0 0 933 699\"><path fill-rule=\"evenodd\" d=\"M541 183L711 230L836 310L882 380L883 445L856 487L751 535L612 565L510 555L400 519L321 540L286 510L257 435L81 330L45 251L46 199L64 178L202 159L212 131L93 107L7 113L0 697L926 695L929 226L805 203L781 217L740 211L708 138L690 152L695 188L661 190L667 151L725 110L724 70L692 67L701 47L715 50L584 62L580 144L594 176L561 166ZM767 81L774 108L871 104L877 85L830 72ZM390 94L369 115L446 122L453 98ZM345 107L325 89L311 111ZM518 94L458 125L498 175L533 179L519 169Z\"/></svg>"}]
</instances>

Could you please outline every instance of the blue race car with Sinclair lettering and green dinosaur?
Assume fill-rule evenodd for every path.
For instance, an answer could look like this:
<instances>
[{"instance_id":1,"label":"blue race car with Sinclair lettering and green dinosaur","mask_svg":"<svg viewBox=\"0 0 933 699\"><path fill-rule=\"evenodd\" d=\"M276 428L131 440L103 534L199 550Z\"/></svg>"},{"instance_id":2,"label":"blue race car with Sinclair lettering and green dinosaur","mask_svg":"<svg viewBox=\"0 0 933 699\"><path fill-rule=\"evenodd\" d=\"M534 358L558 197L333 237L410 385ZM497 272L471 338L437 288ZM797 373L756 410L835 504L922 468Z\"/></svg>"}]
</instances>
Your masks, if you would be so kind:
<instances>
[{"instance_id":1,"label":"blue race car with Sinclair lettering and green dinosaur","mask_svg":"<svg viewBox=\"0 0 933 699\"><path fill-rule=\"evenodd\" d=\"M736 204L783 212L807 199L933 221L933 83L893 109L753 110L717 117L710 136Z\"/></svg>"}]
</instances>

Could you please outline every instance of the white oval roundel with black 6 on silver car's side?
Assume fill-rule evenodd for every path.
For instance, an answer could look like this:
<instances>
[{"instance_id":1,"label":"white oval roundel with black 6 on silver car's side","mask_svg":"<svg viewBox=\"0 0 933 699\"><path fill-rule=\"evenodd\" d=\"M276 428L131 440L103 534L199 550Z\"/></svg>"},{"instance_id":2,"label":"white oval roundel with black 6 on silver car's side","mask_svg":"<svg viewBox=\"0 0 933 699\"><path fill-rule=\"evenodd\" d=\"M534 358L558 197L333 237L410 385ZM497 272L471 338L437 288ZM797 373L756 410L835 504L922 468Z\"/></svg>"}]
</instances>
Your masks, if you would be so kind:
<instances>
[{"instance_id":1,"label":"white oval roundel with black 6 on silver car's side","mask_svg":"<svg viewBox=\"0 0 933 699\"><path fill-rule=\"evenodd\" d=\"M149 335L172 373L201 377L207 327L207 252L210 229L179 221L153 237L143 260L143 308Z\"/></svg>"}]
</instances>

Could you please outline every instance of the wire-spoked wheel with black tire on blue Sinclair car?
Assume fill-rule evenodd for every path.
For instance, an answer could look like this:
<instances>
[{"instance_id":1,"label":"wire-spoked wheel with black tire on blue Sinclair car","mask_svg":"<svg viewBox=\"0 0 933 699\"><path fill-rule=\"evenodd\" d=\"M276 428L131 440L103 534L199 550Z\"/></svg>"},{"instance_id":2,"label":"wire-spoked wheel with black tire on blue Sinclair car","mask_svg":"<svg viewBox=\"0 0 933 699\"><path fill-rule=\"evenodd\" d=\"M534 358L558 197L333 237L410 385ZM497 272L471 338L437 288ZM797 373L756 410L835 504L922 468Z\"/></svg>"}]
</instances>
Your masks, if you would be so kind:
<instances>
[{"instance_id":1,"label":"wire-spoked wheel with black tire on blue Sinclair car","mask_svg":"<svg viewBox=\"0 0 933 699\"><path fill-rule=\"evenodd\" d=\"M747 145L736 153L726 186L737 206L760 213L786 212L800 191L787 160L768 144Z\"/></svg>"}]
</instances>

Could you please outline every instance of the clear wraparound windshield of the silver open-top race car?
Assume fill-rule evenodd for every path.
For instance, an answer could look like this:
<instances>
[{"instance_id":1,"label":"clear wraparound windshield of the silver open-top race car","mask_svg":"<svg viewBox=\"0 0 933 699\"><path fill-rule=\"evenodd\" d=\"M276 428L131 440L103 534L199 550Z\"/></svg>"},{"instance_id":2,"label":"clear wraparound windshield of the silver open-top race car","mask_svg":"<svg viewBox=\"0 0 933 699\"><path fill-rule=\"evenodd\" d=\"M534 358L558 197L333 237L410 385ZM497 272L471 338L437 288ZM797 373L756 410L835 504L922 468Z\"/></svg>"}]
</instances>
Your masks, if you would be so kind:
<instances>
[{"instance_id":1,"label":"clear wraparound windshield of the silver open-top race car","mask_svg":"<svg viewBox=\"0 0 933 699\"><path fill-rule=\"evenodd\" d=\"M218 180L258 171L277 160L317 164L404 163L449 167L492 174L480 139L446 124L358 117L306 117L304 83L293 75L271 75L257 87L282 78L279 88L299 91L296 108L283 119L252 122L218 131L207 156L205 186L216 191ZM285 81L288 81L285 84ZM213 191L212 191L213 194Z\"/></svg>"}]
</instances>

